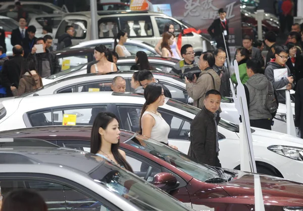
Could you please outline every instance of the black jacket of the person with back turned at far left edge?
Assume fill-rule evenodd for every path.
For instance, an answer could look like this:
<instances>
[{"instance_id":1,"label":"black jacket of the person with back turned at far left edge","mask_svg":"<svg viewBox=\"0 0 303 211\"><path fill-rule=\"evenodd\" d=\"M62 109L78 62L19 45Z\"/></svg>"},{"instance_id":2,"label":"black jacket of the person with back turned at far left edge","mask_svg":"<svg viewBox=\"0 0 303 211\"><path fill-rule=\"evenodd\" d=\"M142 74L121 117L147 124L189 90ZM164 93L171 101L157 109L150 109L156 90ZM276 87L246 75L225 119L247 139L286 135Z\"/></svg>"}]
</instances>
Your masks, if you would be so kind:
<instances>
[{"instance_id":1,"label":"black jacket of the person with back turned at far left edge","mask_svg":"<svg viewBox=\"0 0 303 211\"><path fill-rule=\"evenodd\" d=\"M23 56L16 55L12 59L5 61L3 64L1 85L7 89L7 97L13 97L11 86L18 89L22 61Z\"/></svg>"}]
</instances>

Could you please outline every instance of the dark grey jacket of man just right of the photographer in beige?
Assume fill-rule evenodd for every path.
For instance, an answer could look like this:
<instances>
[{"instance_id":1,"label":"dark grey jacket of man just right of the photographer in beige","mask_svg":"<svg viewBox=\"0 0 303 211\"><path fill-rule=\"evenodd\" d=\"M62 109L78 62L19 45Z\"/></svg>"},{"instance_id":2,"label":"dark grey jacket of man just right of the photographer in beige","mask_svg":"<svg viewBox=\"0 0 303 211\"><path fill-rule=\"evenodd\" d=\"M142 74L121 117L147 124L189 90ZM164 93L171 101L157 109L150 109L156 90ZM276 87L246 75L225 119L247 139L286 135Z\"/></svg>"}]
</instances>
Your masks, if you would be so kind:
<instances>
[{"instance_id":1,"label":"dark grey jacket of man just right of the photographer in beige","mask_svg":"<svg viewBox=\"0 0 303 211\"><path fill-rule=\"evenodd\" d=\"M218 67L217 65L213 66L213 69L216 71L216 73L219 75L222 74L221 78L221 86L220 86L220 93L223 97L230 97L230 73L227 69L227 67L222 66Z\"/></svg>"}]
</instances>

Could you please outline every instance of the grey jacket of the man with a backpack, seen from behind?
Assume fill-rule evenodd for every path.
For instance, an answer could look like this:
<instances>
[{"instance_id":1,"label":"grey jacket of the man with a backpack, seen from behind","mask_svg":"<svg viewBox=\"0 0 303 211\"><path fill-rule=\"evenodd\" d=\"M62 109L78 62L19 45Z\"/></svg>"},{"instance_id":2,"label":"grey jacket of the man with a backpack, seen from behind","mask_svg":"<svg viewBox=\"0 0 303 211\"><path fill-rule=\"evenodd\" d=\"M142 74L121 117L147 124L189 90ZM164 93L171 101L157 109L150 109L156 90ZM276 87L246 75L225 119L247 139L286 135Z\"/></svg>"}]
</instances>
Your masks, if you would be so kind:
<instances>
[{"instance_id":1,"label":"grey jacket of the man with a backpack, seen from behind","mask_svg":"<svg viewBox=\"0 0 303 211\"><path fill-rule=\"evenodd\" d=\"M272 118L266 107L268 90L273 91L271 82L263 74L252 75L245 83L249 92L248 114L249 119ZM270 86L270 87L269 87ZM248 96L246 96L247 98Z\"/></svg>"}]
</instances>

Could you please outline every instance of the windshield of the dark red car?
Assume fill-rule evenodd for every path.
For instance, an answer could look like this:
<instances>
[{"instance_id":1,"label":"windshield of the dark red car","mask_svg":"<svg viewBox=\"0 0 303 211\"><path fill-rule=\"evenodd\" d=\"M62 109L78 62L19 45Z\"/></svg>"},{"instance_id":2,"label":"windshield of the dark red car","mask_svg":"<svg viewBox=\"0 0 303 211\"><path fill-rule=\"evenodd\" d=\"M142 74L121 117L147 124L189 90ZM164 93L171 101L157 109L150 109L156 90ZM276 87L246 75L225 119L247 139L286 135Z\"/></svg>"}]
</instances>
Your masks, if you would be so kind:
<instances>
[{"instance_id":1,"label":"windshield of the dark red car","mask_svg":"<svg viewBox=\"0 0 303 211\"><path fill-rule=\"evenodd\" d=\"M136 135L134 138L129 139L124 143L140 148L141 150L170 163L197 180L206 181L211 178L219 177L217 171L213 167L198 164L192 161L186 154L174 150L159 141L149 139L142 135Z\"/></svg>"}]
</instances>

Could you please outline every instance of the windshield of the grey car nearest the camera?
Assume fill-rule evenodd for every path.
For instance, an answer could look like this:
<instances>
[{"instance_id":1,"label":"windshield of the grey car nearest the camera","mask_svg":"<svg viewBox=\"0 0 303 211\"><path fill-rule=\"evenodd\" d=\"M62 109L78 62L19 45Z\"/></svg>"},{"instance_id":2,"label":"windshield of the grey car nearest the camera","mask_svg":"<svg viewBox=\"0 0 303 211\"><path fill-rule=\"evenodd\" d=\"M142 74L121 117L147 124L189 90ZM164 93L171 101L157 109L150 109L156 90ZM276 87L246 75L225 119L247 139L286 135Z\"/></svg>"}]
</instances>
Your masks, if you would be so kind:
<instances>
[{"instance_id":1,"label":"windshield of the grey car nearest the camera","mask_svg":"<svg viewBox=\"0 0 303 211\"><path fill-rule=\"evenodd\" d=\"M96 160L103 160L93 154L87 155ZM105 165L95 168L89 177L96 184L106 186L113 193L124 197L140 210L167 210L167 207L174 211L192 210L164 191L107 161Z\"/></svg>"}]
</instances>

